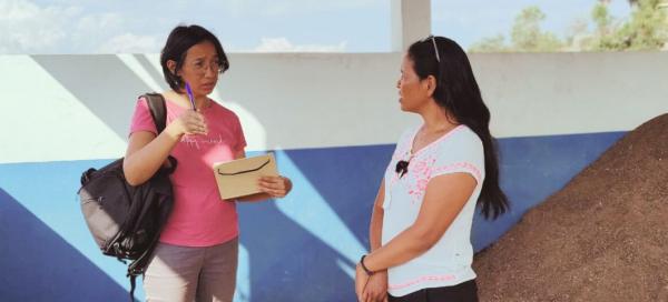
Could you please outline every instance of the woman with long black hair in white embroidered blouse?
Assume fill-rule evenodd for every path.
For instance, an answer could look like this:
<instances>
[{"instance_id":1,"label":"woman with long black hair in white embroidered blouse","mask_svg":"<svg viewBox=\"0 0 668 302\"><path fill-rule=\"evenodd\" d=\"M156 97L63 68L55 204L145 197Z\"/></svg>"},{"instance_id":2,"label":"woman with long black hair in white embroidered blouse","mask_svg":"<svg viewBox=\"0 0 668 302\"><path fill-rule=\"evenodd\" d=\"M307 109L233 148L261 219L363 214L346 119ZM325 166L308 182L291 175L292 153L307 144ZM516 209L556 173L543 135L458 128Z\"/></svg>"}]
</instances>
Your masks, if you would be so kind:
<instances>
[{"instance_id":1,"label":"woman with long black hair in white embroidered blouse","mask_svg":"<svg viewBox=\"0 0 668 302\"><path fill-rule=\"evenodd\" d=\"M499 164L464 51L430 36L413 43L396 83L401 110L423 123L400 139L371 218L371 253L356 268L360 301L478 301L471 268L477 205L503 213Z\"/></svg>"}]
</instances>

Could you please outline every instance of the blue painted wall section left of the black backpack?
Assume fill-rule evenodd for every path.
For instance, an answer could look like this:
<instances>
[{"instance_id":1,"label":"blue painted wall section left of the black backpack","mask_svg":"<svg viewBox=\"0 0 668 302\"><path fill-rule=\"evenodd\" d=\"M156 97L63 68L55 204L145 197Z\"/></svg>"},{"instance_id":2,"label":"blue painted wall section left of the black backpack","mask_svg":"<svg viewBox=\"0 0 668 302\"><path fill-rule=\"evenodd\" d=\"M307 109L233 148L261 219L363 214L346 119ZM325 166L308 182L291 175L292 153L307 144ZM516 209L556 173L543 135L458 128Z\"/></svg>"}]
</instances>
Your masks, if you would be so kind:
<instances>
[{"instance_id":1,"label":"blue painted wall section left of the black backpack","mask_svg":"<svg viewBox=\"0 0 668 302\"><path fill-rule=\"evenodd\" d=\"M127 301L126 266L102 256L76 194L81 172L108 162L0 164L0 270L16 272L0 278L19 284L0 301Z\"/></svg>"}]
</instances>

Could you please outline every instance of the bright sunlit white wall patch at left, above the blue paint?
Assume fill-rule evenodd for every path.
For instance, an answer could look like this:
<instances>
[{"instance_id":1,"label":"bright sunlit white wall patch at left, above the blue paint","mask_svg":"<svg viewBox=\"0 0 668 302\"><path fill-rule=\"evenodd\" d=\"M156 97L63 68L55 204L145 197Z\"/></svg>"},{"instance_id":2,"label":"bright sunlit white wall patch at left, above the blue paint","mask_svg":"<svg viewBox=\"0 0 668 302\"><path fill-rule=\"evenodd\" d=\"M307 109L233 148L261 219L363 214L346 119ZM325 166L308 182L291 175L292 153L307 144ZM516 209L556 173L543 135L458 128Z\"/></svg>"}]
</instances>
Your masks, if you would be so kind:
<instances>
[{"instance_id":1,"label":"bright sunlit white wall patch at left, above the blue paint","mask_svg":"<svg viewBox=\"0 0 668 302\"><path fill-rule=\"evenodd\" d=\"M126 141L31 57L0 56L0 162L105 159L122 154ZM81 79L81 84L87 84L87 79Z\"/></svg>"}]
</instances>

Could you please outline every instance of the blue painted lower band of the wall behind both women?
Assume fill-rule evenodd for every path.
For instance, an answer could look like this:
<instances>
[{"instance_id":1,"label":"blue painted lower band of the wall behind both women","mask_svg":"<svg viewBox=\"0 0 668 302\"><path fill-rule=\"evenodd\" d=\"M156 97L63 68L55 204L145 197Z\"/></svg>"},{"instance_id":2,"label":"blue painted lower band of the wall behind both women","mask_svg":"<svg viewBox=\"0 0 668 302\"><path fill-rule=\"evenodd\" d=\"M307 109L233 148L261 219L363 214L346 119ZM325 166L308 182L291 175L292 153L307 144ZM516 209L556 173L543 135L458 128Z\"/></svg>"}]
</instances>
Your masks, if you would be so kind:
<instances>
[{"instance_id":1,"label":"blue painted lower band of the wall behind both women","mask_svg":"<svg viewBox=\"0 0 668 302\"><path fill-rule=\"evenodd\" d=\"M499 141L501 185L512 202L495 221L477 215L475 250L562 188L622 132ZM372 203L393 145L278 151L291 197L238 207L242 230L235 301L353 301L356 258L369 245ZM253 155L253 154L249 154ZM127 299L125 266L104 256L76 191L89 167L109 160L0 164L1 301ZM11 279L11 280L9 280ZM139 288L139 299L144 293Z\"/></svg>"}]
</instances>

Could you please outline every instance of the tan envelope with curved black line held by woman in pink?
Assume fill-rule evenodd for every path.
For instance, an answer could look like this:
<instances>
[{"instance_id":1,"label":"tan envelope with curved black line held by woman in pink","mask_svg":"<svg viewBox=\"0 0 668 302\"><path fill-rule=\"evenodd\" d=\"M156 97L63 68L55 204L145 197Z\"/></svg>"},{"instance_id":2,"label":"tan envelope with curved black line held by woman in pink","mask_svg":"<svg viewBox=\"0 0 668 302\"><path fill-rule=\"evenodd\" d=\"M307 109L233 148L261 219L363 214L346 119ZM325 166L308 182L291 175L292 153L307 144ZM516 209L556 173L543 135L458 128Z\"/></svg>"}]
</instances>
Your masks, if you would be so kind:
<instances>
[{"instance_id":1,"label":"tan envelope with curved black line held by woman in pink","mask_svg":"<svg viewBox=\"0 0 668 302\"><path fill-rule=\"evenodd\" d=\"M264 175L277 177L274 154L214 163L218 193L223 200L259 193L257 180Z\"/></svg>"}]
</instances>

